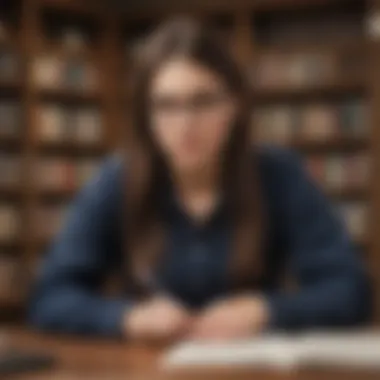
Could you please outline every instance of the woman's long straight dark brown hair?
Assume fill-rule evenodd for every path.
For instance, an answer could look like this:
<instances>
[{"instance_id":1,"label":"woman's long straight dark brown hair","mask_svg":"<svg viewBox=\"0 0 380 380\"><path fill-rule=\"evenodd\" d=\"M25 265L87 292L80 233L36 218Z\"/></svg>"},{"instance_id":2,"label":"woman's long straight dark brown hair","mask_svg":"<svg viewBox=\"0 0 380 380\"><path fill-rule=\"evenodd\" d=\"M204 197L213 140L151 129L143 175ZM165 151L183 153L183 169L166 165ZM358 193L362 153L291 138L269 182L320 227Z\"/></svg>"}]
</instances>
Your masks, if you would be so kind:
<instances>
[{"instance_id":1,"label":"woman's long straight dark brown hair","mask_svg":"<svg viewBox=\"0 0 380 380\"><path fill-rule=\"evenodd\" d=\"M252 287L261 275L263 212L250 132L246 78L215 31L191 18L161 25L136 53L131 90L131 131L126 155L126 248L131 283L154 270L165 244L157 194L168 166L149 132L148 94L154 73L173 56L188 57L217 74L239 102L224 152L222 186L234 229L231 289Z\"/></svg>"}]
</instances>

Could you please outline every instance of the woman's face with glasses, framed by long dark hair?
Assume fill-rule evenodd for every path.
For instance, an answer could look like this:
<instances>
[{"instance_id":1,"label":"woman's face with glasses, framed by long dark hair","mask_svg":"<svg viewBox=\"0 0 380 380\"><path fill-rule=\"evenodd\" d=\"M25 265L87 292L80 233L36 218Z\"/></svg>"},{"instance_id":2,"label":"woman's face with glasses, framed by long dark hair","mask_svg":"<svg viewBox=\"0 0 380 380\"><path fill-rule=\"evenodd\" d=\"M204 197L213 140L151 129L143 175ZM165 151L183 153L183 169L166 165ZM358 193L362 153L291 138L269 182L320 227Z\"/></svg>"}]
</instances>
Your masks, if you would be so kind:
<instances>
[{"instance_id":1,"label":"woman's face with glasses, framed by long dark hair","mask_svg":"<svg viewBox=\"0 0 380 380\"><path fill-rule=\"evenodd\" d=\"M153 139L176 169L215 163L229 139L235 103L218 75L185 58L169 60L151 84Z\"/></svg>"}]
</instances>

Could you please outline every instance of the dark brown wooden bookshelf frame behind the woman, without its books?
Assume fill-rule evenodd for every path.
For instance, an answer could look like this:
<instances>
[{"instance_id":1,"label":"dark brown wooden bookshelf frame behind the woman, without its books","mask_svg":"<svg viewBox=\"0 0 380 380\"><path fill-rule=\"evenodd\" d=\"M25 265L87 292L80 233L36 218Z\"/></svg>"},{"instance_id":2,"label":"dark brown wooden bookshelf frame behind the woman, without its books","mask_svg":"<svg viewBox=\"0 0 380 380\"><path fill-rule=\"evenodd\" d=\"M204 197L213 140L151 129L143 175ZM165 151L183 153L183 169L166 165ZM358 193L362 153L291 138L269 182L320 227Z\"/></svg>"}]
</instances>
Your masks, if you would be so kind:
<instances>
[{"instance_id":1,"label":"dark brown wooden bookshelf frame behind the woman, without its books","mask_svg":"<svg viewBox=\"0 0 380 380\"><path fill-rule=\"evenodd\" d=\"M96 4L95 4L96 3ZM35 180L36 162L41 158L60 157L71 161L81 159L99 159L112 152L120 144L121 131L126 128L126 108L128 107L127 84L129 65L126 57L127 45L132 45L138 37L159 23L166 15L175 11L197 14L211 24L219 25L228 34L236 58L247 70L248 79L252 79L255 63L271 54L316 54L331 55L334 64L359 57L364 62L352 61L352 67L338 70L336 74L311 82L297 82L293 85L258 86L252 80L252 112L257 108L276 105L294 105L303 107L313 102L335 104L347 99L358 98L369 105L370 126L368 134L339 134L326 139L305 139L295 136L288 146L305 156L311 154L331 155L367 152L374 162L370 183L363 186L326 189L326 194L333 201L366 201L370 205L370 226L365 238L359 239L358 247L369 265L380 278L380 179L376 173L380 167L380 39L371 38L366 33L368 15L375 9L380 11L380 0L363 2L360 0L228 0L178 2L162 1L160 5L146 8L143 4L133 2L125 12L101 7L97 2L79 0L24 0L15 2L17 22L12 19L12 33L7 40L0 42L0 47L8 46L19 52L23 58L19 78L0 79L0 102L2 99L18 99L24 112L24 130L18 137L1 137L0 153L12 152L22 159L22 182L20 186L1 187L0 201L10 202L20 210L22 218L19 239L14 242L0 242L0 248L15 251L15 255L27 268L29 276L35 263L41 257L43 248L49 239L35 236L36 210L42 203L69 202L78 187L62 189L41 189ZM159 9L160 8L160 9ZM0 5L1 10L1 5ZM80 49L67 51L57 35L50 38L49 28L45 25L46 12L53 12L57 23L64 23L72 18L77 27L86 31L91 24L89 43ZM350 38L346 36L322 36L320 40L294 41L278 39L275 28L284 23L296 23L303 15L323 17L324 14L342 14L347 20L361 20L356 25ZM5 13L5 18L7 13ZM313 16L314 17L314 16ZM281 19L282 18L282 19ZM280 20L280 21L279 21ZM323 20L323 18L322 18ZM280 22L280 24L278 24ZM277 25L277 26L276 26ZM289 24L291 25L291 24ZM54 26L55 27L55 26ZM63 25L63 29L66 26ZM69 25L70 27L70 25ZM345 26L346 27L346 26ZM336 28L338 30L339 28ZM267 33L267 35L265 35ZM268 34L269 33L269 34ZM306 38L307 33L302 35ZM298 38L298 37L297 37ZM59 39L58 39L59 40ZM1 53L1 49L0 49ZM61 61L74 59L88 61L96 66L101 75L97 86L92 89L75 90L70 87L39 86L34 80L35 58L41 54L53 54ZM355 69L362 67L360 70ZM39 136L40 122L36 110L44 104L57 104L68 107L91 106L99 110L102 118L102 139L97 143L83 143L74 138L47 142ZM0 119L1 127L1 119ZM1 129L1 128L0 128ZM125 131L124 131L125 132ZM79 161L78 161L79 162ZM28 272L29 271L29 272ZM31 275L30 275L31 276ZM376 282L380 295L380 282ZM380 299L380 297L379 297ZM0 307L17 304L20 299L1 299ZM378 307L380 321L380 305Z\"/></svg>"}]
</instances>

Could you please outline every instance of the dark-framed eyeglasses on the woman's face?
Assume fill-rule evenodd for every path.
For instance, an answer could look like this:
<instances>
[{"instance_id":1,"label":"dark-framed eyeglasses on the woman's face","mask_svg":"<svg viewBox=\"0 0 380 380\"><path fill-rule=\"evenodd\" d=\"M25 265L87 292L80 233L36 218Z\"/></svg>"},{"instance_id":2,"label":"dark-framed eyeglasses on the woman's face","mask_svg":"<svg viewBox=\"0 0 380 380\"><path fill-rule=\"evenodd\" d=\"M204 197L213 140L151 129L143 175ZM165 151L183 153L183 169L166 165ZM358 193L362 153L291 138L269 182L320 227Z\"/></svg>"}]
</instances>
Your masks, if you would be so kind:
<instances>
[{"instance_id":1,"label":"dark-framed eyeglasses on the woman's face","mask_svg":"<svg viewBox=\"0 0 380 380\"><path fill-rule=\"evenodd\" d=\"M161 118L176 118L184 113L202 117L219 112L229 100L226 92L203 92L188 99L161 96L151 100L151 111L153 116Z\"/></svg>"}]
</instances>

